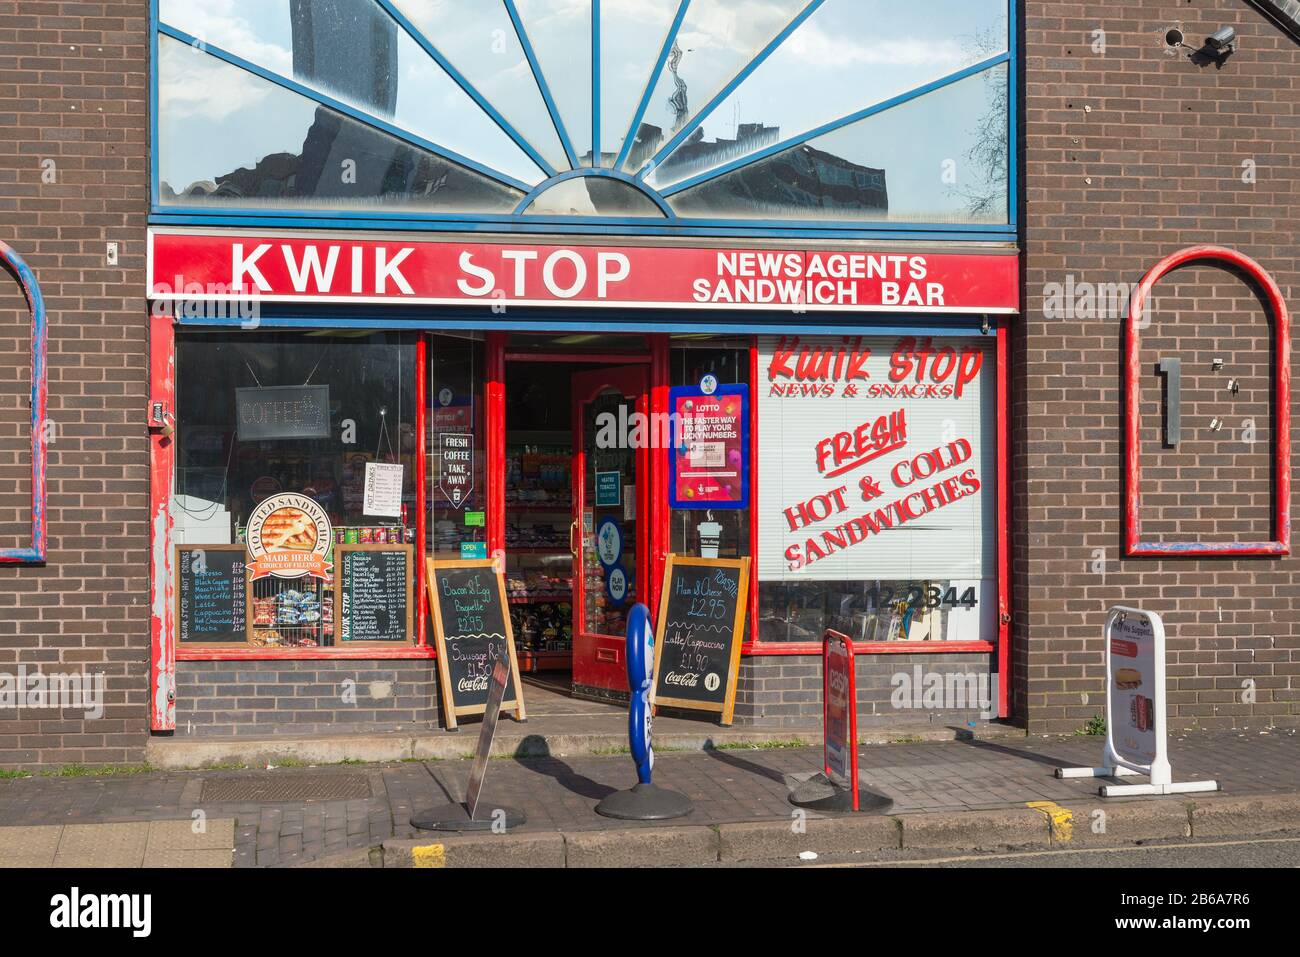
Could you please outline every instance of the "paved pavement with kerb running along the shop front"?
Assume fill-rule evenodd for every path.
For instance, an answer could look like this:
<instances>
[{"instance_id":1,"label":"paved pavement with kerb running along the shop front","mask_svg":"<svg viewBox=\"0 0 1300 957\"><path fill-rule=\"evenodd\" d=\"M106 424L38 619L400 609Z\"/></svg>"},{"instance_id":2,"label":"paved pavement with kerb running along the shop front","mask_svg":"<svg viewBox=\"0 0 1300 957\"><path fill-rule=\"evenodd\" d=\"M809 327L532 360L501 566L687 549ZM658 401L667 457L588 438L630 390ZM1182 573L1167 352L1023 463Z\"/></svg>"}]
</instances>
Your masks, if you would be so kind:
<instances>
[{"instance_id":1,"label":"paved pavement with kerb running along the shop front","mask_svg":"<svg viewBox=\"0 0 1300 957\"><path fill-rule=\"evenodd\" d=\"M1080 844L1173 837L1186 833L1187 828L1195 830L1197 820L1222 833L1240 833L1243 828L1248 828L1245 832L1300 828L1300 736L1295 731L1175 736L1170 741L1175 780L1217 778L1223 788L1218 796L1102 800L1093 780L1054 776L1058 766L1091 766L1100 749L1101 741L1095 737L864 745L859 746L859 766L870 787L894 801L889 813L898 822L892 827L901 835L900 846L983 846L987 841L1048 845L1062 840L1061 822L1066 818L1074 840ZM820 749L816 748L660 753L655 783L685 793L694 802L694 810L675 822L637 824L611 822L594 813L602 797L634 783L633 765L625 754L500 758L489 765L484 801L489 809L506 805L526 813L528 822L512 836L532 835L541 841L541 835L562 835L559 845L554 840L533 841L536 846L529 852L536 853L537 859L554 861L556 846L566 848L567 856L566 841L571 839L576 854L599 848L602 841L607 845L611 839L599 837L599 832L677 827L707 828L725 836L728 826L764 822L788 828L796 819L796 810L788 801L790 789L819 767ZM442 843L443 866L465 866L472 857L468 846L473 839L433 840L428 832L415 831L410 822L412 813L422 807L462 800L468 774L468 761L452 759L0 780L0 852L8 849L12 859L20 853L34 858L46 856L51 839L43 831L5 836L12 827L166 820L168 830L160 830L156 841L146 839L143 849L134 831L105 832L116 841L112 844L118 848L114 853L139 854L143 862L152 852L156 859L166 861L176 849L168 840L183 837L178 823L187 824L195 810L203 810L209 822L229 822L230 844L224 848L191 845L190 852L214 858L211 852L233 848L235 867L328 859L363 866L363 861L372 858L370 849L382 846L382 857L387 859L389 848L398 848L402 841L411 846ZM364 785L361 792L358 792L358 779ZM220 793L224 800L204 800L209 784L220 784L209 793ZM299 797L265 800L266 794L281 793L272 787L276 784L290 785L282 793ZM321 797L302 797L312 793ZM356 793L368 796L330 796ZM1105 815L1106 826L1100 836L1093 831L1098 811ZM970 817L962 824L953 820L954 815ZM864 818L809 814L807 833L818 841L852 836L848 826L832 827L819 823L822 820L861 822ZM887 844L892 840L888 832L881 837L867 824L855 827L861 833L853 840L884 840ZM581 837L584 833L592 836ZM30 837L30 849L23 835ZM646 835L650 844L645 846L649 849L666 839L667 835ZM760 853L786 854L802 844L783 844L775 833L763 837L737 832L729 844L722 837L696 832L689 839L677 852L690 857L719 857L725 846L749 848L736 852L738 856L759 853L759 849ZM56 846L61 844L62 839ZM692 848L689 853L684 850L686 846ZM500 859L504 850L504 845L497 845L494 858ZM508 859L508 854L504 858Z\"/></svg>"}]
</instances>

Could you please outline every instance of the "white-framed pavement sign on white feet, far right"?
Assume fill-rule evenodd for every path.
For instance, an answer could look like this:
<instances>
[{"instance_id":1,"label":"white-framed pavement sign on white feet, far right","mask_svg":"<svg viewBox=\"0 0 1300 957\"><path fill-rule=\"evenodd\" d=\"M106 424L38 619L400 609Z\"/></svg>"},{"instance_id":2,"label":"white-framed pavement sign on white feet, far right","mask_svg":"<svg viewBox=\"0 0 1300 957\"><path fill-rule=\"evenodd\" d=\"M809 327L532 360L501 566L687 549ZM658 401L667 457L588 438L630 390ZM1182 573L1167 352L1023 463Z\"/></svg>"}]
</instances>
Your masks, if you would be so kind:
<instances>
[{"instance_id":1,"label":"white-framed pavement sign on white feet, far right","mask_svg":"<svg viewBox=\"0 0 1300 957\"><path fill-rule=\"evenodd\" d=\"M1106 744L1101 767L1058 767L1057 778L1147 775L1149 784L1106 784L1102 797L1218 791L1218 781L1174 783L1165 722L1165 623L1117 605L1106 612Z\"/></svg>"}]
</instances>

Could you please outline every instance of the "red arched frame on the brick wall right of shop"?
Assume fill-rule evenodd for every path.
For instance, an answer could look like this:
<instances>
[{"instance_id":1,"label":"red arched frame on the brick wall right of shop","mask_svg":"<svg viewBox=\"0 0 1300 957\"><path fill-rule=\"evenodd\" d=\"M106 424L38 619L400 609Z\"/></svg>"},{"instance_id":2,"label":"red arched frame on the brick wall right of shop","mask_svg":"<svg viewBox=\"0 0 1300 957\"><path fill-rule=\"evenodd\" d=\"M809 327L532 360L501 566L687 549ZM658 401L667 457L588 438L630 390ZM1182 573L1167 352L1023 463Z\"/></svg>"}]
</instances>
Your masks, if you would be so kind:
<instances>
[{"instance_id":1,"label":"red arched frame on the brick wall right of shop","mask_svg":"<svg viewBox=\"0 0 1300 957\"><path fill-rule=\"evenodd\" d=\"M1139 438L1140 341L1139 320L1152 287L1161 277L1190 263L1236 267L1254 282L1273 312L1273 534L1268 542L1144 542L1141 540L1141 443ZM1124 346L1124 554L1127 555L1290 555L1291 554L1291 319L1282 290L1249 256L1223 246L1188 246L1150 268L1128 304Z\"/></svg>"}]
</instances>

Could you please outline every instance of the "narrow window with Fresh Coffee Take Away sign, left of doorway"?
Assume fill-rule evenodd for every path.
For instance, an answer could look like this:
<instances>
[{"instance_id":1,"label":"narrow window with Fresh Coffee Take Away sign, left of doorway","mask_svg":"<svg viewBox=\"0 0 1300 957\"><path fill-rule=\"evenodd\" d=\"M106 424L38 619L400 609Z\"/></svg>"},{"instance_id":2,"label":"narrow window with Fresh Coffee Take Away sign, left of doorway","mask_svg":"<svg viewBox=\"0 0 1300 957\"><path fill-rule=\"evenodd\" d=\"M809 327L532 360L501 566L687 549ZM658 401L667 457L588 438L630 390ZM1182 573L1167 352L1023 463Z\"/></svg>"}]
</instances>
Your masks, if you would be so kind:
<instances>
[{"instance_id":1,"label":"narrow window with Fresh Coffee Take Away sign, left of doorway","mask_svg":"<svg viewBox=\"0 0 1300 957\"><path fill-rule=\"evenodd\" d=\"M488 554L488 425L482 333L429 337L428 555Z\"/></svg>"}]
</instances>

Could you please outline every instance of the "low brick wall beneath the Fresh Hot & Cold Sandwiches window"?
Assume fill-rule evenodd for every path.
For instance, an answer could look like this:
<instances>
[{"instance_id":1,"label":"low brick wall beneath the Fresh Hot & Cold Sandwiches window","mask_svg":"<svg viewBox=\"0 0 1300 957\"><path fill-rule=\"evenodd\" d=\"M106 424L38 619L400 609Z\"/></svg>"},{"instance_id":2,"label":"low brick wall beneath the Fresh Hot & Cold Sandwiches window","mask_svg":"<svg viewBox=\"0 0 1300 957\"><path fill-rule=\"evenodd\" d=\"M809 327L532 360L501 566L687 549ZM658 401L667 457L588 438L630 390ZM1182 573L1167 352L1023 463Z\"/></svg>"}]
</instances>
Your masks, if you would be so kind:
<instances>
[{"instance_id":1,"label":"low brick wall beneath the Fresh Hot & Cold Sandwiches window","mask_svg":"<svg viewBox=\"0 0 1300 957\"><path fill-rule=\"evenodd\" d=\"M962 700L979 703L987 694L997 707L997 694L987 684L988 655L979 654L862 654L854 658L858 685L858 728L965 727L982 722L980 707L957 709ZM919 668L919 674L918 674ZM904 675L902 677L896 677ZM946 698L926 689L935 679L953 694ZM958 676L974 676L974 683ZM918 689L919 690L914 690ZM988 689L988 690L985 690ZM962 697L957 697L957 693ZM935 703L940 706L933 706ZM942 703L953 705L942 707ZM901 706L898 706L901 705ZM919 707L918 707L919 705ZM758 655L741 659L736 684L736 723L763 727L822 727L820 655Z\"/></svg>"}]
</instances>

